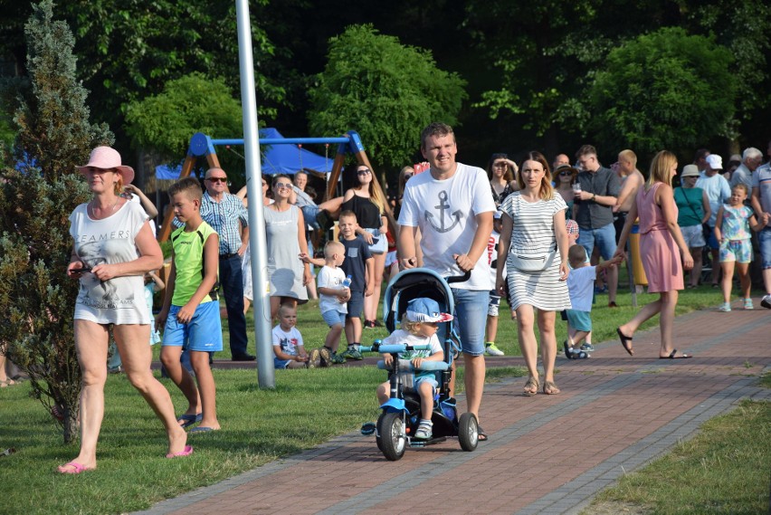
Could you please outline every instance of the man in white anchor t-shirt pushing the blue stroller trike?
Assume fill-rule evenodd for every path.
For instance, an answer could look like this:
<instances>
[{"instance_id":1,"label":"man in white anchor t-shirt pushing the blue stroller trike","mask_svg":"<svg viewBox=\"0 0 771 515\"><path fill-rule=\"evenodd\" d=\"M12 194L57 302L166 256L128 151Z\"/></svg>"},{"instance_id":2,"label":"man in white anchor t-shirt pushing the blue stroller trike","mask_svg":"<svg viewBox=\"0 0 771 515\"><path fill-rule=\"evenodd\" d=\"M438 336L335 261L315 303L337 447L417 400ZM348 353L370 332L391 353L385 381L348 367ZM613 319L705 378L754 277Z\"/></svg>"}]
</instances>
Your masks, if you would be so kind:
<instances>
[{"instance_id":1,"label":"man in white anchor t-shirt pushing the blue stroller trike","mask_svg":"<svg viewBox=\"0 0 771 515\"><path fill-rule=\"evenodd\" d=\"M431 165L405 186L399 215L399 255L402 268L414 268L415 233L422 234L424 266L443 277L471 272L453 282L455 319L465 363L468 411L479 420L484 389L484 332L490 290L487 243L492 232L495 202L485 171L455 161L458 148L452 127L434 122L421 134L421 152ZM480 428L480 441L487 434Z\"/></svg>"}]
</instances>

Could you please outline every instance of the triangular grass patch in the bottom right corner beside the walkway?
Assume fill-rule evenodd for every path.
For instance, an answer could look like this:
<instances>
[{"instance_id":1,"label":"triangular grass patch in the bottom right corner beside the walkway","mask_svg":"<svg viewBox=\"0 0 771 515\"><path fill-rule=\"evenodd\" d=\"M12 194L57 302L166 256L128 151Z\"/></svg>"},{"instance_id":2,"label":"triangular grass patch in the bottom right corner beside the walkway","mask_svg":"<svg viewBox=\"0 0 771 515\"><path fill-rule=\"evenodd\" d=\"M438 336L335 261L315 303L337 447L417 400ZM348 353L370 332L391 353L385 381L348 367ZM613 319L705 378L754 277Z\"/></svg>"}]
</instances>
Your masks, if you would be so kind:
<instances>
[{"instance_id":1,"label":"triangular grass patch in the bottom right corner beside the walkway","mask_svg":"<svg viewBox=\"0 0 771 515\"><path fill-rule=\"evenodd\" d=\"M602 491L582 515L768 513L771 403L743 401L691 440Z\"/></svg>"}]
</instances>

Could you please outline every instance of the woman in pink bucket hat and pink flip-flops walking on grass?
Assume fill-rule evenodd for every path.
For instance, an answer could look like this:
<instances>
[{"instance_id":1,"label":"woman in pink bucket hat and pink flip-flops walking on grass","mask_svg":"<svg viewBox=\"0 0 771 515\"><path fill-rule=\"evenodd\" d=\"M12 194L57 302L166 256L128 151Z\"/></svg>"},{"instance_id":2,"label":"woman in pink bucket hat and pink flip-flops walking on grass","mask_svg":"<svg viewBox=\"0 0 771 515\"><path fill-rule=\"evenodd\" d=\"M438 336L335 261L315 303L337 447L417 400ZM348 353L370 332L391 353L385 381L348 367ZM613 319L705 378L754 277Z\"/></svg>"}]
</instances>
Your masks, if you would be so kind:
<instances>
[{"instance_id":1,"label":"woman in pink bucket hat and pink flip-flops walking on grass","mask_svg":"<svg viewBox=\"0 0 771 515\"><path fill-rule=\"evenodd\" d=\"M109 325L126 375L166 426L167 457L193 452L185 430L176 422L167 389L150 372L148 346L153 323L145 301L143 276L163 264L163 254L141 205L119 196L134 180L134 170L121 164L109 147L91 151L78 167L93 197L70 215L74 240L67 275L81 281L75 302L75 346L82 371L81 452L59 472L78 474L96 469L96 445L104 415Z\"/></svg>"}]
</instances>

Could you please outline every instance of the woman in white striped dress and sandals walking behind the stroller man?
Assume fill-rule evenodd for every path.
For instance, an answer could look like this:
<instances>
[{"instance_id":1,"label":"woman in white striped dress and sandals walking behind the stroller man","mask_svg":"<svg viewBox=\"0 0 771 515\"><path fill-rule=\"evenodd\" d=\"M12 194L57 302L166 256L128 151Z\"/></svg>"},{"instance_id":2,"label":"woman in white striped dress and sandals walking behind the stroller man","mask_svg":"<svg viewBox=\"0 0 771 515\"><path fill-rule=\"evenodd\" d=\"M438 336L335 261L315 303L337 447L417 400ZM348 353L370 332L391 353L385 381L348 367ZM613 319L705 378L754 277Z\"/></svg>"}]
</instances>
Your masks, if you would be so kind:
<instances>
[{"instance_id":1,"label":"woman in white striped dress and sandals walking behind the stroller man","mask_svg":"<svg viewBox=\"0 0 771 515\"><path fill-rule=\"evenodd\" d=\"M559 393L554 384L557 357L555 311L570 308L567 293L567 205L551 186L546 157L530 152L519 167L519 192L509 195L500 206L503 229L500 232L498 262L506 261L511 309L516 310L519 348L528 366L524 395L533 396L540 386L538 378L538 342L534 331L535 308L541 335L541 359L544 365L543 392ZM517 268L515 256L544 256L557 249L545 270L528 272ZM503 292L503 273L499 267L496 290Z\"/></svg>"}]
</instances>

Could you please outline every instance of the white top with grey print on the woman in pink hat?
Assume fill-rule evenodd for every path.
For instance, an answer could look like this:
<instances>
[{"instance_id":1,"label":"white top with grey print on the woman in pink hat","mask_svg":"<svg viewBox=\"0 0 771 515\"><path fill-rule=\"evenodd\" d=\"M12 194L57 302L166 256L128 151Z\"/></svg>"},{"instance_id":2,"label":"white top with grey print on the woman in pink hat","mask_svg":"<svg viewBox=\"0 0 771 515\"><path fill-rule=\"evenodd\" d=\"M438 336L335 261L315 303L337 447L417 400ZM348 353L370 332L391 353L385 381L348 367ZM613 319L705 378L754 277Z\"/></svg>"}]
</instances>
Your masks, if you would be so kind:
<instances>
[{"instance_id":1,"label":"white top with grey print on the woman in pink hat","mask_svg":"<svg viewBox=\"0 0 771 515\"><path fill-rule=\"evenodd\" d=\"M139 257L134 238L147 220L148 214L142 206L133 202L125 203L102 220L92 220L87 205L81 204L70 215L75 253L90 267L134 261ZM83 273L81 291L75 302L75 319L98 324L151 323L143 276L100 281L92 273Z\"/></svg>"}]
</instances>

